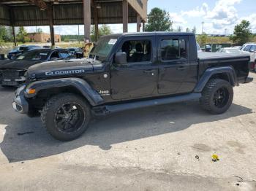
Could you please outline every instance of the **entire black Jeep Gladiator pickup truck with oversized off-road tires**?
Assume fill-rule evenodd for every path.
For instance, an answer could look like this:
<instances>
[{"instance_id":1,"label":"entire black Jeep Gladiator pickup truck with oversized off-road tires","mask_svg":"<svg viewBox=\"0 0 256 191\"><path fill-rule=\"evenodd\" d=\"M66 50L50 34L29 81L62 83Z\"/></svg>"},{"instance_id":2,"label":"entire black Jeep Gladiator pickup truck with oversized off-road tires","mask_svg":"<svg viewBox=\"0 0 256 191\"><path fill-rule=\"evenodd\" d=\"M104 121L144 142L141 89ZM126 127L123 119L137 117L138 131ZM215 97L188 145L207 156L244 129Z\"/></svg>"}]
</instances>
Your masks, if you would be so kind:
<instances>
[{"instance_id":1,"label":"entire black Jeep Gladiator pickup truck with oversized off-road tires","mask_svg":"<svg viewBox=\"0 0 256 191\"><path fill-rule=\"evenodd\" d=\"M248 55L200 52L189 33L104 36L88 58L39 63L26 73L13 108L41 114L50 135L78 138L91 117L200 99L211 114L226 112L233 87L252 82Z\"/></svg>"}]
</instances>

